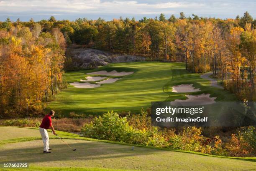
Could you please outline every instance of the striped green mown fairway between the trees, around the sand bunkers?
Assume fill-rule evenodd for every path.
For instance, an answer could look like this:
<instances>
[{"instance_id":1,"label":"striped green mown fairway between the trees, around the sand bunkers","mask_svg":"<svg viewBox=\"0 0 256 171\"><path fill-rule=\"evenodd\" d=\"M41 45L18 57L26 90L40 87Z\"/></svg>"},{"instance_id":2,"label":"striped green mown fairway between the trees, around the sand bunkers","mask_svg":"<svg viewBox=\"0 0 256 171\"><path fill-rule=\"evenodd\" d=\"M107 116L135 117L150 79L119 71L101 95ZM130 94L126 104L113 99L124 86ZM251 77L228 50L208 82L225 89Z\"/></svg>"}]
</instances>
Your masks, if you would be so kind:
<instances>
[{"instance_id":1,"label":"striped green mown fairway between the trees, around the sand bunkers","mask_svg":"<svg viewBox=\"0 0 256 171\"><path fill-rule=\"evenodd\" d=\"M115 83L103 84L97 88L82 89L69 85L48 104L47 110L53 109L66 116L69 112L139 112L142 107L150 107L151 102L186 99L184 93L171 92L171 87L178 84L194 84L202 90L186 94L210 93L211 97L218 97L217 101L235 99L233 94L211 87L210 81L200 78L200 74L189 73L184 68L184 63L131 62L109 64L94 70L67 72L64 74L64 80L71 83L84 79L86 73L99 70L134 71L133 74L123 76Z\"/></svg>"}]
</instances>

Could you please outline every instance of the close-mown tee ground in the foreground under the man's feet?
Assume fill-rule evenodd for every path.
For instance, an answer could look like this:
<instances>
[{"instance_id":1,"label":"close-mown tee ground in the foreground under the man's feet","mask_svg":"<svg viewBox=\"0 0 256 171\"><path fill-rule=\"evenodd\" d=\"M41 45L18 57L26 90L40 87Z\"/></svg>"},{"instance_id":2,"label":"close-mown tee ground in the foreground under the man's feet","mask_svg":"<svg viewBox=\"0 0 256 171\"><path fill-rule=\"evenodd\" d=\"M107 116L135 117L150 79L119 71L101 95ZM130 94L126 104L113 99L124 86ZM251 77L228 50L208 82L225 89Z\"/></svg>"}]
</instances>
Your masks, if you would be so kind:
<instances>
[{"instance_id":1,"label":"close-mown tee ground in the foreground under the man's feet","mask_svg":"<svg viewBox=\"0 0 256 171\"><path fill-rule=\"evenodd\" d=\"M19 131L31 136L38 132L38 136L40 136L37 129L0 127L0 131L8 131L9 134ZM26 141L26 139L23 139L23 142L11 143L12 140L9 139L9 143L0 146L0 164L23 162L28 163L31 170L51 170L51 166L55 167L53 170L57 170L56 167L62 168L62 170L65 170L65 167L74 167L79 168L79 170L95 171L99 169L88 168L129 170L253 170L256 168L256 162L254 161L137 146L133 151L131 146L120 143L105 143L99 140L87 141L85 138L78 137L75 134L60 131L59 134L63 137L69 136L69 138L73 138L64 139L64 141L76 148L77 151L72 151L59 139L50 139L52 153L42 154L42 140ZM74 136L72 137L72 135ZM9 138L17 139L20 136L16 134L16 136ZM0 144L2 141L0 141ZM255 160L255 158L251 158L251 160ZM46 169L44 167L49 168Z\"/></svg>"}]
</instances>

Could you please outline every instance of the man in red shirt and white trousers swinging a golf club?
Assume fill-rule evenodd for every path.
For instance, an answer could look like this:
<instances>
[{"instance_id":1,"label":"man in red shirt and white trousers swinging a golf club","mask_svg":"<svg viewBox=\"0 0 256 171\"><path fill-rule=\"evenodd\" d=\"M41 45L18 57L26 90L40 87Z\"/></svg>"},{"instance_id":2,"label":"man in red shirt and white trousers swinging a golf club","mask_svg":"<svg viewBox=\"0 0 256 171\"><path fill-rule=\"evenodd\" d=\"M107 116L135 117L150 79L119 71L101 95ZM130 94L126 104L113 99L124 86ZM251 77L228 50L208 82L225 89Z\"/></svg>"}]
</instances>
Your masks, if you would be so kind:
<instances>
[{"instance_id":1,"label":"man in red shirt and white trousers swinging a golf club","mask_svg":"<svg viewBox=\"0 0 256 171\"><path fill-rule=\"evenodd\" d=\"M51 117L54 116L54 111L51 110L51 112L49 114L46 114L46 116L44 116L44 119L41 123L41 125L39 126L39 131L40 134L42 136L43 142L44 142L44 152L43 153L51 153L49 150L51 150L49 148L49 135L46 129L51 129L52 133L54 135L56 135L55 131L54 131L54 127L51 124Z\"/></svg>"}]
</instances>

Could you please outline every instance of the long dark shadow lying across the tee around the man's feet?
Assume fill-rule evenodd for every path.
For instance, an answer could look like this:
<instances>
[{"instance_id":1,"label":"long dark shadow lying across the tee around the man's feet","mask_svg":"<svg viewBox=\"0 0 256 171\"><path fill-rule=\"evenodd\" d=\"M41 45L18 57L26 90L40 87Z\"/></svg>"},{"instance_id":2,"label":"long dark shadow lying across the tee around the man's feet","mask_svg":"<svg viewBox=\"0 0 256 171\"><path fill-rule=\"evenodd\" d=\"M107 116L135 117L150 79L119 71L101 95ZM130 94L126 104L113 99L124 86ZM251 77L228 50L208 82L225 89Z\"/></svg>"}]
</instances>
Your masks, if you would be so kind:
<instances>
[{"instance_id":1,"label":"long dark shadow lying across the tee around the man's feet","mask_svg":"<svg viewBox=\"0 0 256 171\"><path fill-rule=\"evenodd\" d=\"M42 143L39 140L37 141L38 143ZM160 153L156 149L135 147L135 150L133 151L131 150L131 146L95 141L85 141L84 143L70 144L72 148L77 149L77 151L72 151L72 149L68 148L65 144L51 145L51 141L53 140L50 139L50 147L52 148L51 154L43 154L42 147L24 147L6 150L1 149L0 162L21 162L30 164L44 161L86 161L92 159L109 159ZM67 140L64 139L64 141ZM69 141L67 141L67 143L69 143Z\"/></svg>"}]
</instances>

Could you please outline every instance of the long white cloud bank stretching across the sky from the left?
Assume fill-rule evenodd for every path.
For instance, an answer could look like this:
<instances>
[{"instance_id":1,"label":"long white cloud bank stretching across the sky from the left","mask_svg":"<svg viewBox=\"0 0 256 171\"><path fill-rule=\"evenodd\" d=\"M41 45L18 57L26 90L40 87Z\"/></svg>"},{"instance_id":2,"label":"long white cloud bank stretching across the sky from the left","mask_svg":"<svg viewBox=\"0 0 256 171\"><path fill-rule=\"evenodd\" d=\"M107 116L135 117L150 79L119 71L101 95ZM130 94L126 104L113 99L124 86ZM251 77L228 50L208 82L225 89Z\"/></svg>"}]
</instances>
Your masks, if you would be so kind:
<instances>
[{"instance_id":1,"label":"long white cloud bank stretching across the sky from the left","mask_svg":"<svg viewBox=\"0 0 256 171\"><path fill-rule=\"evenodd\" d=\"M67 13L126 13L150 14L157 13L161 9L177 7L195 7L202 4L188 2L166 2L166 3L139 3L137 1L107 1L100 0L8 0L0 1L0 11L2 12L25 12L25 11L45 11L67 12Z\"/></svg>"}]
</instances>

